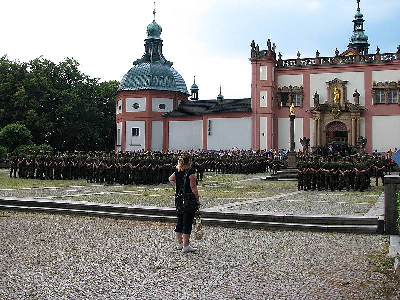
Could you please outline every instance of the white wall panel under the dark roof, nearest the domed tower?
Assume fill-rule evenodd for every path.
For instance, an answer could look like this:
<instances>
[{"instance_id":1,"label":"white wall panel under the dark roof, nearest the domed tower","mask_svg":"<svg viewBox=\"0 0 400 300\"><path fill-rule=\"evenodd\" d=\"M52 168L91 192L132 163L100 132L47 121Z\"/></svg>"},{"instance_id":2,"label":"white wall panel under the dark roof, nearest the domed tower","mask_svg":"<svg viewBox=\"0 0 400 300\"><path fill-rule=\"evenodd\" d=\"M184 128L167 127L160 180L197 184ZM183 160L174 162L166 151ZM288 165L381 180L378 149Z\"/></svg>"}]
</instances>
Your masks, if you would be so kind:
<instances>
[{"instance_id":1,"label":"white wall panel under the dark roof, nearest the domed tower","mask_svg":"<svg viewBox=\"0 0 400 300\"><path fill-rule=\"evenodd\" d=\"M169 122L169 150L203 148L203 121Z\"/></svg>"}]
</instances>

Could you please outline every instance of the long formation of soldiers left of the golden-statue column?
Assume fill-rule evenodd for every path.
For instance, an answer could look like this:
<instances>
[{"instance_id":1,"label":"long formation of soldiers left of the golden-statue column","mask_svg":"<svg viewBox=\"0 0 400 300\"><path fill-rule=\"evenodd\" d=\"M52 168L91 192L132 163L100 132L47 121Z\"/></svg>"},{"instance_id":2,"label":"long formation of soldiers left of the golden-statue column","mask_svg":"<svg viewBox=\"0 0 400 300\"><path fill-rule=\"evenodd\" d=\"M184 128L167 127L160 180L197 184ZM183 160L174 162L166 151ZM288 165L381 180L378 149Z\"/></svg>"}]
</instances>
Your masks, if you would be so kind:
<instances>
[{"instance_id":1,"label":"long formation of soldiers left of the golden-statue column","mask_svg":"<svg viewBox=\"0 0 400 300\"><path fill-rule=\"evenodd\" d=\"M114 153L89 151L33 151L11 156L10 177L18 169L19 178L70 180L108 184L166 184L178 162L179 153ZM195 156L193 168L198 181L204 172L222 174L251 174L277 172L286 167L287 160L267 154L219 155L201 152Z\"/></svg>"}]
</instances>

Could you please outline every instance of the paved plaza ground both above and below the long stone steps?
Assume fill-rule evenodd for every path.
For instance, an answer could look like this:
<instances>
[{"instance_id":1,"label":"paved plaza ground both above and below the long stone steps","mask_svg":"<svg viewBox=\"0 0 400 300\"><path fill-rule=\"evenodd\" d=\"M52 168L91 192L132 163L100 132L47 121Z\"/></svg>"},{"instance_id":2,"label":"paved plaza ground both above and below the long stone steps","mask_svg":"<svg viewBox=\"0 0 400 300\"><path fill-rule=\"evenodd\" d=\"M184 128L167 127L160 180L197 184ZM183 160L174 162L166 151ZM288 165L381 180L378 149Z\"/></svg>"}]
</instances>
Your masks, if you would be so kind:
<instances>
[{"instance_id":1,"label":"paved plaza ground both above and below the long stone steps","mask_svg":"<svg viewBox=\"0 0 400 300\"><path fill-rule=\"evenodd\" d=\"M381 195L297 191L264 174L205 174L204 207L364 215ZM0 195L173 207L171 185L11 179ZM174 224L1 211L0 299L400 299L387 235L207 226L197 253Z\"/></svg>"}]
</instances>

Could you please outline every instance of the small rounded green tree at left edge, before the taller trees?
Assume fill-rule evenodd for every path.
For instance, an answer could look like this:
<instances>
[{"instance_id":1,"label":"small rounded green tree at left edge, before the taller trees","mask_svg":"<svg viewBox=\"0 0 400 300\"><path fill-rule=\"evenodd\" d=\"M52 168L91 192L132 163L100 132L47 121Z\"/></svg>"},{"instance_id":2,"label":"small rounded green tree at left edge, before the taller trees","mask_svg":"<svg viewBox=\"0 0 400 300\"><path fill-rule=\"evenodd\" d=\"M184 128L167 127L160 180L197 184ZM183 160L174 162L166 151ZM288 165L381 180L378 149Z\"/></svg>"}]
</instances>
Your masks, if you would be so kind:
<instances>
[{"instance_id":1,"label":"small rounded green tree at left edge, before the taller trees","mask_svg":"<svg viewBox=\"0 0 400 300\"><path fill-rule=\"evenodd\" d=\"M9 124L0 131L0 143L10 149L33 143L33 136L24 125Z\"/></svg>"}]
</instances>

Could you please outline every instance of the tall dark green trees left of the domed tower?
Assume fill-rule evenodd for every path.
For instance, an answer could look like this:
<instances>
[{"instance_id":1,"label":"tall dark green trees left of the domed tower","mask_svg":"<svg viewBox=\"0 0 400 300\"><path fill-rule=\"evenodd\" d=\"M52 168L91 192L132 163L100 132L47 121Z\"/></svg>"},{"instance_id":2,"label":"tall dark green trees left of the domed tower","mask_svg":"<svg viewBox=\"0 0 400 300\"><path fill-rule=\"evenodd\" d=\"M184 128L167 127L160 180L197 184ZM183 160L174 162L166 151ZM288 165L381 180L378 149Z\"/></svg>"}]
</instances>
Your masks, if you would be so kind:
<instances>
[{"instance_id":1,"label":"tall dark green trees left of the domed tower","mask_svg":"<svg viewBox=\"0 0 400 300\"><path fill-rule=\"evenodd\" d=\"M0 130L26 126L32 140L55 150L110 150L115 147L115 96L118 81L100 82L67 58L21 62L0 57ZM9 126L8 126L9 128ZM10 151L15 145L1 144ZM20 145L17 145L20 146Z\"/></svg>"}]
</instances>

